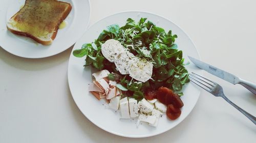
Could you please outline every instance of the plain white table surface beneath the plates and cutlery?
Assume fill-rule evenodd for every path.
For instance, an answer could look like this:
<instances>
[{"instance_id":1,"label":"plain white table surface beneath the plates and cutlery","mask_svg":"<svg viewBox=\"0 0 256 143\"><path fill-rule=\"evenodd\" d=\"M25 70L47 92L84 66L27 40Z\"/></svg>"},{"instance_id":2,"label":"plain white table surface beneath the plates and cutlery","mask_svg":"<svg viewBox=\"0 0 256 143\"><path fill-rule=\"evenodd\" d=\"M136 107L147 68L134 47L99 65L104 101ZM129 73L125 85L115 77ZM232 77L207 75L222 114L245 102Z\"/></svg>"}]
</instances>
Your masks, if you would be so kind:
<instances>
[{"instance_id":1,"label":"plain white table surface beneath the plates and cutlery","mask_svg":"<svg viewBox=\"0 0 256 143\"><path fill-rule=\"evenodd\" d=\"M90 25L113 13L140 10L166 17L191 37L209 64L256 82L256 1L91 1ZM20 47L22 48L22 47ZM256 126L221 98L202 91L175 128L147 138L125 138L92 124L72 99L68 49L24 59L0 48L0 142L253 142ZM256 95L208 73L226 96L256 116Z\"/></svg>"}]
</instances>

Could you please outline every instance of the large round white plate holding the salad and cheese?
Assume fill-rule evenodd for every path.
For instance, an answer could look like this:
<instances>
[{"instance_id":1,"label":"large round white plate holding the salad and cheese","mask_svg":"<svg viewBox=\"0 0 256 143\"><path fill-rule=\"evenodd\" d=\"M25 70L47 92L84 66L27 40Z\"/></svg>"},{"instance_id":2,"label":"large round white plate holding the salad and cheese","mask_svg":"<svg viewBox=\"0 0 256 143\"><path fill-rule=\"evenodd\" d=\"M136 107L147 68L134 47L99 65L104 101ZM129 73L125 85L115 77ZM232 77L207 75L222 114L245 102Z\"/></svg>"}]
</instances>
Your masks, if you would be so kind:
<instances>
[{"instance_id":1,"label":"large round white plate holding the salad and cheese","mask_svg":"<svg viewBox=\"0 0 256 143\"><path fill-rule=\"evenodd\" d=\"M81 48L84 43L93 42L108 25L119 24L122 26L125 24L127 18L133 18L138 21L141 17L146 17L148 20L153 21L157 26L163 27L165 31L172 30L173 34L177 34L178 38L176 43L178 44L179 49L183 50L183 56L186 60L188 60L187 55L200 59L195 45L179 26L161 16L136 11L117 13L101 19L88 28L87 32L76 42L73 50ZM147 124L139 125L137 127L137 119L120 120L119 113L109 109L105 100L102 99L99 101L89 93L88 84L92 82L92 69L90 67L83 68L84 64L84 57L76 58L71 53L68 68L68 80L74 101L84 116L86 116L92 123L101 129L116 135L125 137L147 137L168 131L187 117L189 112L194 108L200 95L200 90L193 84L186 84L183 88L184 96L181 97L184 106L182 107L181 116L177 120L170 121L164 114L160 118L157 127L152 127ZM193 64L189 64L186 68L189 72L193 71L201 73L201 70Z\"/></svg>"}]
</instances>

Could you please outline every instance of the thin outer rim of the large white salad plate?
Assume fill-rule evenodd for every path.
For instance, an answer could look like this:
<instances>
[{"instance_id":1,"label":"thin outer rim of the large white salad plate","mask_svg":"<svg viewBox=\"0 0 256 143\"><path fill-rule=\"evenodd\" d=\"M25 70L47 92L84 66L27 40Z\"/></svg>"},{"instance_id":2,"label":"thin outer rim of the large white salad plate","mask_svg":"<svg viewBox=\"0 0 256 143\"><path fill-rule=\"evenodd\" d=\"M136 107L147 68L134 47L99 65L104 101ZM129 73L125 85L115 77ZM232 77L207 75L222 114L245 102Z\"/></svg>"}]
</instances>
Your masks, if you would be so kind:
<instances>
[{"instance_id":1,"label":"thin outer rim of the large white salad plate","mask_svg":"<svg viewBox=\"0 0 256 143\"><path fill-rule=\"evenodd\" d=\"M110 14L110 15L108 15L108 16L105 16L105 17L103 17L103 18L97 20L96 22L94 22L92 25L90 25L90 26L87 28L87 31L88 31L93 25L95 25L95 24L101 22L101 21L104 20L105 18L111 17L111 16L113 16L113 15L122 14L122 13L129 13L129 12L147 13L147 14L151 14L151 15L155 15L155 16L164 18L164 19L166 19L167 21L174 23L174 24L175 24L178 28L180 28L180 30L181 30L183 33L185 33L185 35L190 39L191 43L194 45L194 47L195 47L195 49L196 49L196 53L197 53L197 55L198 55L198 59L201 60L201 56L200 56L199 51L198 51L198 49L197 49L197 47L196 47L196 44L195 44L194 41L190 38L190 36L189 36L179 25L177 25L175 22L169 20L168 18L165 18L164 16L160 16L160 15L155 14L155 13L152 13L152 12L139 11L139 10L127 10L127 11L116 12L116 13ZM86 32L87 32L87 31L86 31ZM84 32L83 35L84 35L86 32ZM83 35L82 35L81 37L83 37ZM80 39L81 39L81 37L80 37ZM80 40L80 39L78 39L78 40ZM75 44L76 44L76 43L75 43ZM72 52L73 52L73 50L74 50L74 48L75 48L75 44L74 44L74 46L73 46L73 48L72 48ZM71 52L71 54L70 54L70 58L71 58L71 56L73 56L72 52ZM115 131L111 131L111 130L105 129L105 128L102 127L101 125L97 125L94 121L92 121L91 119L89 119L89 118L82 112L82 110L80 109L80 107L77 105L77 102L76 102L76 100L74 99L74 96L73 96L73 94L72 94L72 90L71 90L71 88L70 88L70 84L71 84L71 83L70 83L70 82L71 82L71 81L70 81L70 70L69 70L69 69L70 69L70 58L69 58L69 63L68 63L68 84L69 84L69 89L70 89L71 96L72 96L74 102L76 103L76 106L77 106L78 109L81 111L81 113L83 114L83 116L86 117L86 118L87 118L90 122L92 122L95 126L99 127L100 129L102 129L102 130L104 130L104 131L106 131L106 132L109 132L109 133L112 133L112 134L115 134L115 135L118 135L118 136L130 137L130 138L144 138L144 137L156 136L156 135L162 134L162 133L164 133L164 132L166 132L166 131L168 131L168 130L170 130L170 129L172 129L172 128L175 128L175 127L176 127L177 125L179 125L182 121L184 121L184 120L187 118L187 116L191 113L191 111L195 108L195 105L197 104L198 99L199 99L199 97L200 97L200 95L201 95L201 90L199 90L198 98L196 99L196 102L195 102L195 104L193 105L193 107L189 110L188 114L184 117L184 119L183 119L180 123L178 123L177 125L173 126L172 128L165 129L165 130L162 130L161 132L157 132L157 133L153 133L153 134L147 134L147 135L137 135L137 136L136 136L136 135L125 135L125 134L122 134L122 133L118 133L118 132L115 132ZM200 71L202 71L202 70L200 69Z\"/></svg>"}]
</instances>

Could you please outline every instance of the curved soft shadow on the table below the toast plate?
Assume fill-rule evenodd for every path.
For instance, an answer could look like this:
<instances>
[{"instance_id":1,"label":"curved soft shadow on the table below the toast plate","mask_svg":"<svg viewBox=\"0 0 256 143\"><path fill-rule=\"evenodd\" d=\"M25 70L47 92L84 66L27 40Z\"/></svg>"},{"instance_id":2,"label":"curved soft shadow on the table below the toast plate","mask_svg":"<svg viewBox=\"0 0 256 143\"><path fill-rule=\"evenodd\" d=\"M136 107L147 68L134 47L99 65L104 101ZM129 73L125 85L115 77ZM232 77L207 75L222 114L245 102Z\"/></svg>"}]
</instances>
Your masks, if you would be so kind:
<instances>
[{"instance_id":1,"label":"curved soft shadow on the table below the toast plate","mask_svg":"<svg viewBox=\"0 0 256 143\"><path fill-rule=\"evenodd\" d=\"M52 68L67 61L69 59L72 48L73 46L59 54L50 56L48 58L27 59L13 55L0 47L0 60L17 69L38 71Z\"/></svg>"}]
</instances>

